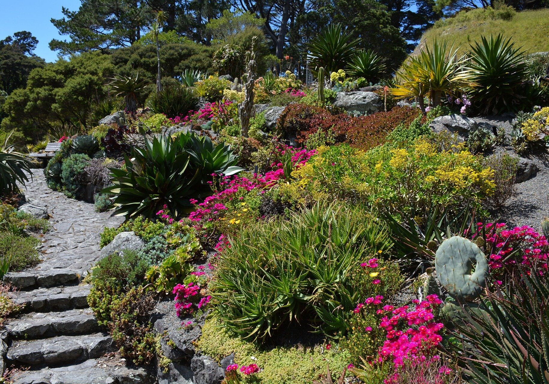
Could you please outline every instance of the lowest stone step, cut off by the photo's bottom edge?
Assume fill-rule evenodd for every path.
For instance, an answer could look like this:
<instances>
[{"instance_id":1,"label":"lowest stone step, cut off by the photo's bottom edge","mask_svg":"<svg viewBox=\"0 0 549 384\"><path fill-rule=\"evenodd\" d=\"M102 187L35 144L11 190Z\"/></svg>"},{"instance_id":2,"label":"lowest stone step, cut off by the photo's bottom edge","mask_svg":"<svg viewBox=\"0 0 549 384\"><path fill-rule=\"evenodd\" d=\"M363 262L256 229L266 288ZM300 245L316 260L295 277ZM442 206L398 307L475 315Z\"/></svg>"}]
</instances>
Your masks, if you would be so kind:
<instances>
[{"instance_id":1,"label":"lowest stone step, cut off by the photo's bottom edge","mask_svg":"<svg viewBox=\"0 0 549 384\"><path fill-rule=\"evenodd\" d=\"M16 372L11 378L12 384L153 384L155 382L155 378L143 368L131 369L126 366L107 365L97 359L58 368L31 368L28 371Z\"/></svg>"}]
</instances>

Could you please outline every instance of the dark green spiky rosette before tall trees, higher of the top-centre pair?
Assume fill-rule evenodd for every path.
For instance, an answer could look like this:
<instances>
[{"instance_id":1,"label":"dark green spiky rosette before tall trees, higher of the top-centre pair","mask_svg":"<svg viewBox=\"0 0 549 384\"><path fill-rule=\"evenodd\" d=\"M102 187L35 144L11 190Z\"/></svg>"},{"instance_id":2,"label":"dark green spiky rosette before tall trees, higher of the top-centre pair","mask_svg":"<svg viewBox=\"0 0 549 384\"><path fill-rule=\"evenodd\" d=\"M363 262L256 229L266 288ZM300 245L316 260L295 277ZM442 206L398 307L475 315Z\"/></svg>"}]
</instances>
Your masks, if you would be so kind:
<instances>
[{"instance_id":1,"label":"dark green spiky rosette before tall trees, higher of the top-centre pair","mask_svg":"<svg viewBox=\"0 0 549 384\"><path fill-rule=\"evenodd\" d=\"M358 39L353 39L341 25L330 25L307 45L307 61L313 68L322 66L328 73L344 69L355 53L357 44Z\"/></svg>"}]
</instances>

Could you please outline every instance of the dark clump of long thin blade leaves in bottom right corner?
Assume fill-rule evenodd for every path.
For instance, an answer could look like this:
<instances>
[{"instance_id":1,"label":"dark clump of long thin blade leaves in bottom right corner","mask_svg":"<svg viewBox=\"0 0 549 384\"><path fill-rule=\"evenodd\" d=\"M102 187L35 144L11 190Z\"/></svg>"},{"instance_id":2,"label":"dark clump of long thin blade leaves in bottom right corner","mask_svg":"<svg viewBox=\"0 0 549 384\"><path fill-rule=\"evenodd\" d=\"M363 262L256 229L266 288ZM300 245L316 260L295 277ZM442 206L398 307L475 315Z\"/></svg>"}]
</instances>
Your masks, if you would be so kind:
<instances>
[{"instance_id":1,"label":"dark clump of long thin blade leaves in bottom right corner","mask_svg":"<svg viewBox=\"0 0 549 384\"><path fill-rule=\"evenodd\" d=\"M474 384L549 383L549 276L520 266L494 292L482 315L464 311L449 352Z\"/></svg>"}]
</instances>

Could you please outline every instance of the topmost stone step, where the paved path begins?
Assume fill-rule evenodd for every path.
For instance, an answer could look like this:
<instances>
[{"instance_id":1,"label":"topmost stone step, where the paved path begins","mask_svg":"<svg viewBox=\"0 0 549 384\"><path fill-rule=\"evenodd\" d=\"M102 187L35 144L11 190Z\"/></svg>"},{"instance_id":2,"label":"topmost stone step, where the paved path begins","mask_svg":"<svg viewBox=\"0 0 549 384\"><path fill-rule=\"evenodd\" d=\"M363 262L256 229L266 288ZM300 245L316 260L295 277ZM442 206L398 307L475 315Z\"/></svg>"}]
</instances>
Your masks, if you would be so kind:
<instances>
[{"instance_id":1,"label":"topmost stone step, where the paved path begins","mask_svg":"<svg viewBox=\"0 0 549 384\"><path fill-rule=\"evenodd\" d=\"M81 275L77 271L65 268L36 270L31 272L8 272L4 275L4 284L11 284L22 290L33 287L59 287L68 283L76 284Z\"/></svg>"}]
</instances>

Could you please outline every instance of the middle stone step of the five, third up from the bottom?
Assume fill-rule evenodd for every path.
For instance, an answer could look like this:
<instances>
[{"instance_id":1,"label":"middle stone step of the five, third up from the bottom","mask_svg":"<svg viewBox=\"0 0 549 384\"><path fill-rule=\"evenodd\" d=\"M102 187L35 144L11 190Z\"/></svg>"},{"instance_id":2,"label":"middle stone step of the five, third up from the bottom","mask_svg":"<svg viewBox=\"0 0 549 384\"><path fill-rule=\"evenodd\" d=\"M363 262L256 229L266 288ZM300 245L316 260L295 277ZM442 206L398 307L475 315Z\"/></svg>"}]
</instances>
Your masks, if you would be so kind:
<instances>
[{"instance_id":1,"label":"middle stone step of the five, third up from the bottom","mask_svg":"<svg viewBox=\"0 0 549 384\"><path fill-rule=\"evenodd\" d=\"M10 338L36 339L52 336L86 335L100 330L93 311L71 309L62 312L29 313L5 325Z\"/></svg>"}]
</instances>

